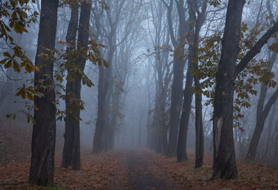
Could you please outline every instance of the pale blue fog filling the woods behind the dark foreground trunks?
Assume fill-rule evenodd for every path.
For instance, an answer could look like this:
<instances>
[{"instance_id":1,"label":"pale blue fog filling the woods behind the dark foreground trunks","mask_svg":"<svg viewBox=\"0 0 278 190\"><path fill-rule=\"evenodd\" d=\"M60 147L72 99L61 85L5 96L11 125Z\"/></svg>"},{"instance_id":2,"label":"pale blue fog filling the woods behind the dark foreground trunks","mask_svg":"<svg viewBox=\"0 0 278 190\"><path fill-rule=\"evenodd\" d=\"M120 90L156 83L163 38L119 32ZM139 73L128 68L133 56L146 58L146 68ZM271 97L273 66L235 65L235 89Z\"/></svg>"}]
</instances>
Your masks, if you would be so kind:
<instances>
[{"instance_id":1,"label":"pale blue fog filling the woods behind the dark foreground trunks","mask_svg":"<svg viewBox=\"0 0 278 190\"><path fill-rule=\"evenodd\" d=\"M240 31L228 28L229 1L88 1L88 31L83 26L88 15L83 8L86 1L76 6L75 18L74 3L69 6L63 2L58 7L55 51L51 58L56 152L65 154L65 130L75 126L68 130L70 133L71 129L78 129L72 132L75 135L80 127L81 152L149 148L166 157L177 157L177 161L188 160L187 152L195 152L203 163L204 154L218 154L222 143L223 147L226 145L223 139L227 138L229 148L227 145L225 150L231 150L229 154L235 155L236 160L278 166L277 32L234 74L256 42L277 22L278 1L247 1L242 15L233 18L235 24L240 17ZM37 21L29 24L28 33L12 30L9 34L14 44L9 45L1 37L0 60L6 58L3 52L13 54L13 47L19 45L33 65L38 65L42 56L37 53L41 6L41 1L28 3L28 17L37 11ZM77 31L71 45L69 23L74 20ZM3 22L9 23L7 18ZM238 37L229 41L225 33ZM88 39L84 41L86 35ZM235 39L239 40L238 45L225 57L225 48L233 47ZM226 47L225 40L229 44ZM84 47L86 52L79 52ZM224 58L229 56L230 60L234 56L234 62L225 68ZM69 66L70 63L74 66ZM24 67L16 72L5 64L1 63L0 70L0 122L2 126L14 125L13 129L26 131L28 145L24 146L31 147L31 131L39 125L33 116L38 110L33 101L16 94L22 85L26 88L36 85L34 72L26 72ZM226 78L218 78L222 68L224 77L233 75L229 78L232 78L229 85L234 86L230 98L224 96L229 91L225 87L229 85L224 84ZM74 69L81 75L74 75ZM220 95L218 86L222 89ZM37 98L39 101L39 95L34 94L35 101ZM232 103L231 107L227 102ZM78 106L69 109L73 104ZM217 131L219 125L230 131L221 131L221 127ZM224 134L220 138L221 132ZM74 138L72 142L79 140ZM69 147L74 147L74 143ZM79 150L79 145L76 147ZM201 152L199 156L197 152Z\"/></svg>"}]
</instances>

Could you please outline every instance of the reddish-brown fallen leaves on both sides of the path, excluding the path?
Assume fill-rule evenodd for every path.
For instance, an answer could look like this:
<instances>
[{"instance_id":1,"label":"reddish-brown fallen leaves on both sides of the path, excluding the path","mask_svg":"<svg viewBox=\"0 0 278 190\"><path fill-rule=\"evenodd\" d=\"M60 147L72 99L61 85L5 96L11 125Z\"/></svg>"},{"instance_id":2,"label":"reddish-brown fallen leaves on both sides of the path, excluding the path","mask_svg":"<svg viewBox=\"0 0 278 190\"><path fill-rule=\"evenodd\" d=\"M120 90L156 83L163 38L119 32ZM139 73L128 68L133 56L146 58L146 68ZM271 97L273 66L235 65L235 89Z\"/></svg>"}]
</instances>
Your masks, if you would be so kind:
<instances>
[{"instance_id":1,"label":"reddish-brown fallen leaves on both sides of the path, excluding the path","mask_svg":"<svg viewBox=\"0 0 278 190\"><path fill-rule=\"evenodd\" d=\"M214 180L211 177L211 159L206 155L202 168L194 168L194 152L189 152L189 161L177 163L176 158L166 158L151 150L140 149L138 166L144 175L172 184L173 189L278 189L278 170L238 162L238 180ZM61 168L61 154L56 154L55 186L38 187L28 184L30 159L12 160L0 166L0 189L132 189L127 150L81 155L81 171ZM140 166L140 163L144 163ZM146 165L147 164L147 165ZM140 173L138 174L140 175ZM15 184L17 183L17 184Z\"/></svg>"}]
</instances>

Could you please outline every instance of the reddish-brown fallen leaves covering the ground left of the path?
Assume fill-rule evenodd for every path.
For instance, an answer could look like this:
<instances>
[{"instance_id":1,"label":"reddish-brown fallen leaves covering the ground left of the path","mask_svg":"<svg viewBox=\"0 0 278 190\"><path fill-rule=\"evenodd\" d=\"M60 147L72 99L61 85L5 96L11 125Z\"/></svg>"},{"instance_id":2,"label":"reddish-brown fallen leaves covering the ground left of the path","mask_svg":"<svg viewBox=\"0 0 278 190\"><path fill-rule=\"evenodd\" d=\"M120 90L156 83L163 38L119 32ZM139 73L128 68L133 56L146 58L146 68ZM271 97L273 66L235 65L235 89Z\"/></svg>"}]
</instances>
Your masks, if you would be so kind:
<instances>
[{"instance_id":1,"label":"reddish-brown fallen leaves covering the ground left of the path","mask_svg":"<svg viewBox=\"0 0 278 190\"><path fill-rule=\"evenodd\" d=\"M56 155L54 187L38 187L28 184L30 158L10 161L0 165L0 189L117 189L124 185L122 152L111 151L99 155L83 152L81 171L61 168L61 154ZM5 182L6 184L1 184ZM17 184L16 184L17 183Z\"/></svg>"}]
</instances>

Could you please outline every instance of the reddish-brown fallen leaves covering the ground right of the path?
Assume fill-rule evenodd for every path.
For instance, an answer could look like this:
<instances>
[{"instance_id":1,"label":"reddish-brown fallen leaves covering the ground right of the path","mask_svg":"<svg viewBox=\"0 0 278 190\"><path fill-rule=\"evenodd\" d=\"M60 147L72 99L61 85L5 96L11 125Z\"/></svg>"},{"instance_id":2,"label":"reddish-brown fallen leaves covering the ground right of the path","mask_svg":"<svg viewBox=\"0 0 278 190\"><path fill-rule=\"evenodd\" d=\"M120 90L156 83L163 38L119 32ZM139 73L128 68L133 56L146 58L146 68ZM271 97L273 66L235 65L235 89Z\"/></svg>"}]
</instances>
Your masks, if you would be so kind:
<instances>
[{"instance_id":1,"label":"reddish-brown fallen leaves covering the ground right of the path","mask_svg":"<svg viewBox=\"0 0 278 190\"><path fill-rule=\"evenodd\" d=\"M237 162L237 180L209 181L212 174L212 155L206 154L204 166L194 168L194 152L188 152L189 161L177 163L177 158L166 158L164 155L145 150L145 157L153 161L149 171L161 179L172 179L179 189L278 189L278 169L261 165ZM153 168L161 168L156 171ZM167 177L165 177L167 175Z\"/></svg>"}]
</instances>

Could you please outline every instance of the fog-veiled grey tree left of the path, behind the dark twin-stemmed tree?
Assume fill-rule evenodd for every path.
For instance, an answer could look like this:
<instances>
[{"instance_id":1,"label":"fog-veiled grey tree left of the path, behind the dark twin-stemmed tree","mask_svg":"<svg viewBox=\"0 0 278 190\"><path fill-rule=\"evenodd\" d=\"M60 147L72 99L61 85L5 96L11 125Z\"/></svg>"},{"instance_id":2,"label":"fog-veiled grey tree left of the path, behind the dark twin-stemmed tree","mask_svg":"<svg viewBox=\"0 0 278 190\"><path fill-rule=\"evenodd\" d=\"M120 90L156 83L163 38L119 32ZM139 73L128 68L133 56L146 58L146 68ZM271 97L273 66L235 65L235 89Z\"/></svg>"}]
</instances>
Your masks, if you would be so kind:
<instances>
[{"instance_id":1,"label":"fog-veiled grey tree left of the path, behind the dark twin-stemmed tree","mask_svg":"<svg viewBox=\"0 0 278 190\"><path fill-rule=\"evenodd\" d=\"M107 144L108 136L111 136L108 132L110 124L108 122L108 104L111 100L112 88L111 88L111 78L113 77L113 55L117 49L117 28L120 22L120 16L122 15L122 9L126 1L111 1L107 4L109 7L106 10L106 18L108 22L108 29L106 27L101 27L101 30L107 38L107 61L109 64L99 67L99 84L98 84L98 96L97 96L97 122L95 127L95 135L93 139L92 152L99 153L106 150L105 145ZM113 17L114 15L114 17ZM100 27L100 26L99 26ZM123 39L125 40L125 39ZM122 41L123 41L122 40ZM106 134L106 138L105 138ZM106 141L107 140L107 141Z\"/></svg>"}]
</instances>

